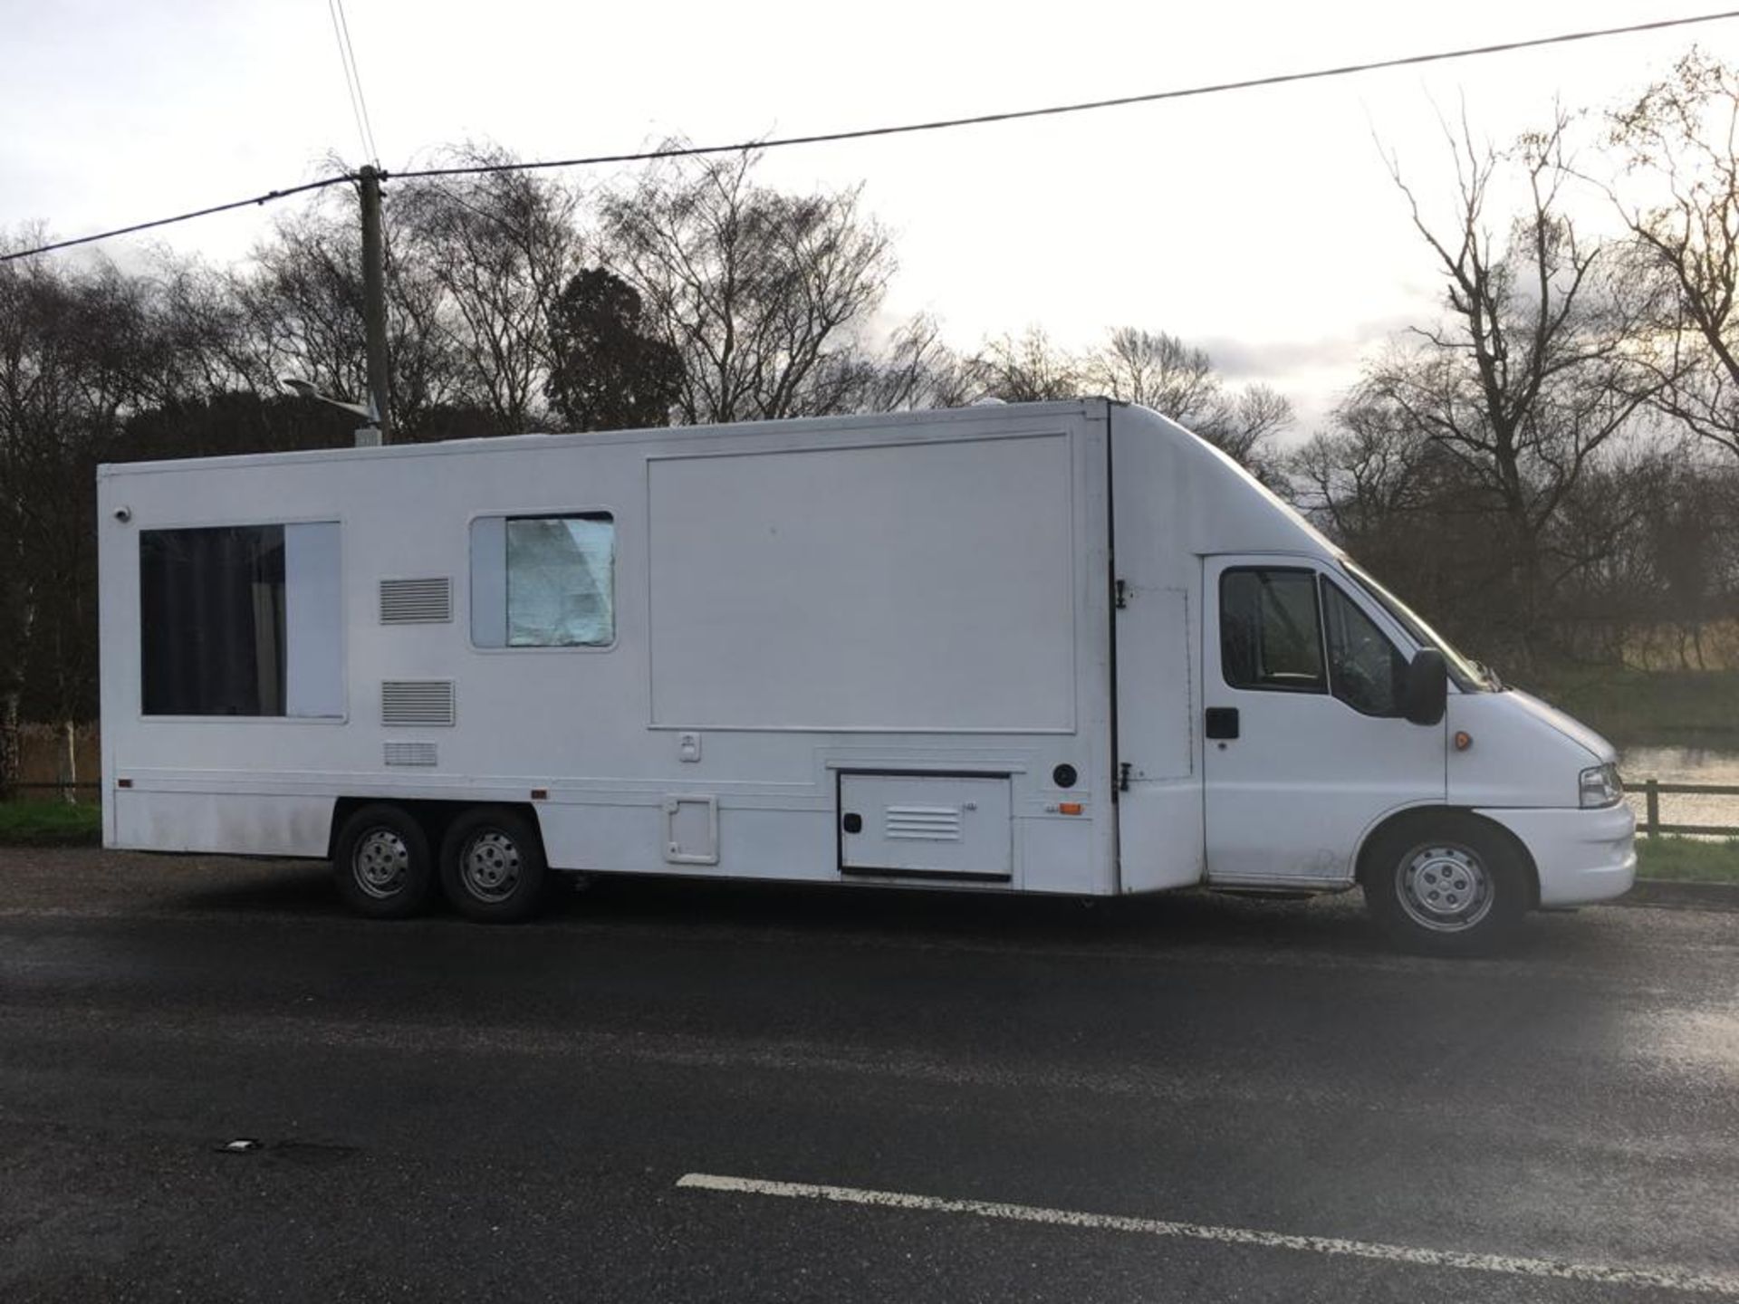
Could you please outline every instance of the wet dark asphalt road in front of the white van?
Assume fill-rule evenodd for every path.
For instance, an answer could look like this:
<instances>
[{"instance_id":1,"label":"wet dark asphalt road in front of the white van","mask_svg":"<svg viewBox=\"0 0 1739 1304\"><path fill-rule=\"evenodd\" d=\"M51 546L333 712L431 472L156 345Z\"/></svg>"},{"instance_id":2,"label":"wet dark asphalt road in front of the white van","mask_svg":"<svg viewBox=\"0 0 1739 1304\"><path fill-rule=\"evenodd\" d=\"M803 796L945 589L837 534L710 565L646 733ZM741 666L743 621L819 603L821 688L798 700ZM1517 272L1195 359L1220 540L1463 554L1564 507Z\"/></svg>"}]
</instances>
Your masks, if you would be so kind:
<instances>
[{"instance_id":1,"label":"wet dark asphalt road in front of the white van","mask_svg":"<svg viewBox=\"0 0 1739 1304\"><path fill-rule=\"evenodd\" d=\"M1356 899L616 882L487 928L0 852L5 1301L1722 1297L1739 913L1482 961Z\"/></svg>"}]
</instances>

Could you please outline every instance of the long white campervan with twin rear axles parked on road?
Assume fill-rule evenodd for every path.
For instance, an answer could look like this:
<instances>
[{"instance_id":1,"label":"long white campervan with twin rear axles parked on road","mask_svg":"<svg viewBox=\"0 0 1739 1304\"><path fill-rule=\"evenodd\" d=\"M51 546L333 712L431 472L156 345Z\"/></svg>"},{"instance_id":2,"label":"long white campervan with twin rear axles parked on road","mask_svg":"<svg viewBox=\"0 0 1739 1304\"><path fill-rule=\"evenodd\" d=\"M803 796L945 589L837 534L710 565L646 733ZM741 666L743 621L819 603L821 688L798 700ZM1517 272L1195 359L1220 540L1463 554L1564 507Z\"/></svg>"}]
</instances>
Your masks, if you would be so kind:
<instances>
[{"instance_id":1,"label":"long white campervan with twin rear axles parked on road","mask_svg":"<svg viewBox=\"0 0 1739 1304\"><path fill-rule=\"evenodd\" d=\"M1113 895L1622 894L1614 751L1103 400L104 466L104 845Z\"/></svg>"}]
</instances>

